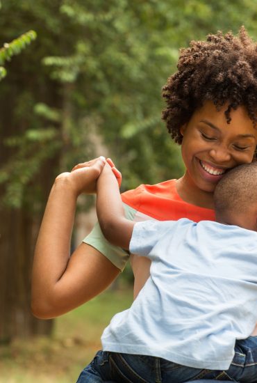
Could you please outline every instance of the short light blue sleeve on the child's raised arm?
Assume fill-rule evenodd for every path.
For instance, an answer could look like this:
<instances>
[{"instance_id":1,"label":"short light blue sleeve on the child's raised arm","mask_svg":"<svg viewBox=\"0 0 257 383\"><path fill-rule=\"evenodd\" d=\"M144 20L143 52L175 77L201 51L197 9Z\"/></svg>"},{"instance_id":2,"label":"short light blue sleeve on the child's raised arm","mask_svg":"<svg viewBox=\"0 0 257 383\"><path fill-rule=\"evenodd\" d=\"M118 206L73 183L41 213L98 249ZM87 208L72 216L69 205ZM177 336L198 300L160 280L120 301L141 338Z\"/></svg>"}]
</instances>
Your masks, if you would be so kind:
<instances>
[{"instance_id":1,"label":"short light blue sleeve on the child's raised arm","mask_svg":"<svg viewBox=\"0 0 257 383\"><path fill-rule=\"evenodd\" d=\"M138 256L148 256L161 237L172 233L176 224L177 221L137 222L133 227L129 251Z\"/></svg>"}]
</instances>

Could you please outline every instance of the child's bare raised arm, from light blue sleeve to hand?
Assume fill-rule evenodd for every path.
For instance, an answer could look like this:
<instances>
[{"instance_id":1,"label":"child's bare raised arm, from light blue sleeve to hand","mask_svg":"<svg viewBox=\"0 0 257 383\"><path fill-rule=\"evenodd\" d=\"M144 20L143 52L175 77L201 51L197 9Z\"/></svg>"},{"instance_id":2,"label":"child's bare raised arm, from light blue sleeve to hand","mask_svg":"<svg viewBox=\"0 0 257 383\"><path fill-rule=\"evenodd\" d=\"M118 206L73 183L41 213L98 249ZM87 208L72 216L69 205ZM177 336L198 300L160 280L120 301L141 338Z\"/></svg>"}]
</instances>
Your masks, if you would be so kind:
<instances>
[{"instance_id":1,"label":"child's bare raised arm, from light blue sleeve to hand","mask_svg":"<svg viewBox=\"0 0 257 383\"><path fill-rule=\"evenodd\" d=\"M97 180L97 216L106 240L129 249L135 223L124 216L117 180L108 164Z\"/></svg>"}]
</instances>

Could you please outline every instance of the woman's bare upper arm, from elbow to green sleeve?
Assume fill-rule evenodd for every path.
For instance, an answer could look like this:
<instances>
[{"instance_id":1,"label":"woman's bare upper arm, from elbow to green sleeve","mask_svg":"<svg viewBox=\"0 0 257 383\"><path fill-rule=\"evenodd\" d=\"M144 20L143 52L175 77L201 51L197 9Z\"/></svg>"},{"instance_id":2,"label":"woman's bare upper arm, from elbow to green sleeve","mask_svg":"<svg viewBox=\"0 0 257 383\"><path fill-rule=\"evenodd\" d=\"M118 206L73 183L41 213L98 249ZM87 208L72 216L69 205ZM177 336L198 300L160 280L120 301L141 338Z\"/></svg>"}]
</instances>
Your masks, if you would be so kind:
<instances>
[{"instance_id":1,"label":"woman's bare upper arm, from elbow to green sleeve","mask_svg":"<svg viewBox=\"0 0 257 383\"><path fill-rule=\"evenodd\" d=\"M82 243L74 251L67 269L49 295L32 299L32 310L38 318L55 318L80 306L105 290L120 270L102 253Z\"/></svg>"}]
</instances>

